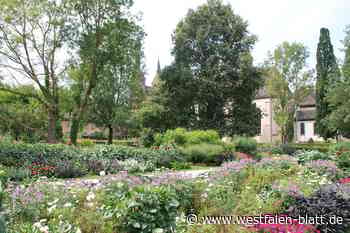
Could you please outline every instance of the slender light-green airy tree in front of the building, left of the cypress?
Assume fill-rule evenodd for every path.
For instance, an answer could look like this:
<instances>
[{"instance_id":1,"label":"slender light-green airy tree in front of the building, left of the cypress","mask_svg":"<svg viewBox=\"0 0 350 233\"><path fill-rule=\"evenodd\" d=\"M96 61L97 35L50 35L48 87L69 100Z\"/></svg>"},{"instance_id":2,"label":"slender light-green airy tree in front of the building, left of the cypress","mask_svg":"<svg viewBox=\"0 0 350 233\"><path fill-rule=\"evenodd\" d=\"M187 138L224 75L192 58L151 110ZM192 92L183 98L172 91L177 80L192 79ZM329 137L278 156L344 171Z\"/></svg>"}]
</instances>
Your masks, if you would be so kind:
<instances>
[{"instance_id":1,"label":"slender light-green airy tree in front of the building, left of the cypress","mask_svg":"<svg viewBox=\"0 0 350 233\"><path fill-rule=\"evenodd\" d=\"M303 44L283 42L267 61L267 91L273 98L274 120L280 128L282 143L293 138L291 126L298 104L312 90L312 74L306 69L308 57Z\"/></svg>"}]
</instances>

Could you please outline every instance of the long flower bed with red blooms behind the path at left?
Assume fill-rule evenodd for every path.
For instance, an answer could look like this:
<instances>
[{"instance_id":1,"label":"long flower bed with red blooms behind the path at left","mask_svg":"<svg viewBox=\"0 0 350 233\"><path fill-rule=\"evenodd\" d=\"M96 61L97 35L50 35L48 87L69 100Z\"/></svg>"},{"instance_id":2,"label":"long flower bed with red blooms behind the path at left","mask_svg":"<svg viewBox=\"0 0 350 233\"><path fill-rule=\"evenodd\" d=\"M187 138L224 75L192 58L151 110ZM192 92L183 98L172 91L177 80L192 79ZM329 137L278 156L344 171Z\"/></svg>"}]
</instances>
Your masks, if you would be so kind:
<instances>
[{"instance_id":1,"label":"long flower bed with red blooms behind the path at left","mask_svg":"<svg viewBox=\"0 0 350 233\"><path fill-rule=\"evenodd\" d=\"M126 146L94 146L78 149L66 145L0 144L0 164L11 180L46 176L73 178L90 174L114 174L119 171L145 172L171 167L184 161L172 147L154 149Z\"/></svg>"}]
</instances>

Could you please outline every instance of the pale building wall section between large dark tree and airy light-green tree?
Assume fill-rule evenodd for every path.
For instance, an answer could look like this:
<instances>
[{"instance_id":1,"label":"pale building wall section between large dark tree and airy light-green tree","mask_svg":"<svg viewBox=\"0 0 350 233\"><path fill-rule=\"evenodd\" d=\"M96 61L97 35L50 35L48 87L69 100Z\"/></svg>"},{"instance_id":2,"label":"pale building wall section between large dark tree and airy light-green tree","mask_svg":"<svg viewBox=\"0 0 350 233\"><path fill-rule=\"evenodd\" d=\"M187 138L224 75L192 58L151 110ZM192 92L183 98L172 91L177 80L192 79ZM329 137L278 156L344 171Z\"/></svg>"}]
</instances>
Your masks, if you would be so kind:
<instances>
[{"instance_id":1,"label":"pale building wall section between large dark tree and airy light-green tree","mask_svg":"<svg viewBox=\"0 0 350 233\"><path fill-rule=\"evenodd\" d=\"M279 140L278 125L273 120L272 99L264 98L254 101L256 106L262 111L261 132L255 139L260 143L268 143Z\"/></svg>"}]
</instances>

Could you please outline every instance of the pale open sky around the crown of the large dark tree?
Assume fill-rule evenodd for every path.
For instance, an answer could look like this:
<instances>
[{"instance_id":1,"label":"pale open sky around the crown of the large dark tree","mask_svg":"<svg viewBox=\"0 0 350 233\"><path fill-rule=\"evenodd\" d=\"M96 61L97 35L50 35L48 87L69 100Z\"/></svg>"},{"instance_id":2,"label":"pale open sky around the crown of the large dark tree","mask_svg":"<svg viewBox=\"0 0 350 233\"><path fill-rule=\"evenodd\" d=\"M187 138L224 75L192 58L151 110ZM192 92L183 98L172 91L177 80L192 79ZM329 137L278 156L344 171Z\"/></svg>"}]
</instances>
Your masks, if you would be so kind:
<instances>
[{"instance_id":1,"label":"pale open sky around the crown of the large dark tree","mask_svg":"<svg viewBox=\"0 0 350 233\"><path fill-rule=\"evenodd\" d=\"M315 68L316 50L321 27L330 30L338 59L343 59L341 40L345 27L350 25L349 0L223 0L230 3L235 14L249 23L248 30L258 36L252 51L254 63L262 63L268 51L283 41L301 42L310 52L310 68ZM135 0L134 10L141 12L145 38L146 83L156 74L157 61L161 67L173 58L171 35L189 9L206 0Z\"/></svg>"}]
</instances>

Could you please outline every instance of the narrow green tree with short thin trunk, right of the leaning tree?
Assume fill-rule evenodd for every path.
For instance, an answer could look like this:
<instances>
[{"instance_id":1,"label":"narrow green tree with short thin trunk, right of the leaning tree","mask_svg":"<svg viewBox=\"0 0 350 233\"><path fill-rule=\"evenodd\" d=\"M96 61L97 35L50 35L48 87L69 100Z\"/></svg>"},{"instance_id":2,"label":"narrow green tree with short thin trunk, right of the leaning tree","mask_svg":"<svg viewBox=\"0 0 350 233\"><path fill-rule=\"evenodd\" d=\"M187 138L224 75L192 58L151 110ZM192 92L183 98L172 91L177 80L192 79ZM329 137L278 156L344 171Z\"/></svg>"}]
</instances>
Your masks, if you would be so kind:
<instances>
[{"instance_id":1,"label":"narrow green tree with short thin trunk, right of the leaning tree","mask_svg":"<svg viewBox=\"0 0 350 233\"><path fill-rule=\"evenodd\" d=\"M90 119L109 130L108 143L113 143L115 127L130 126L132 110L141 101L142 91L142 29L134 22L124 21L110 25L113 33L104 47L104 69L92 94Z\"/></svg>"}]
</instances>

